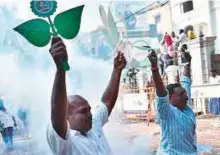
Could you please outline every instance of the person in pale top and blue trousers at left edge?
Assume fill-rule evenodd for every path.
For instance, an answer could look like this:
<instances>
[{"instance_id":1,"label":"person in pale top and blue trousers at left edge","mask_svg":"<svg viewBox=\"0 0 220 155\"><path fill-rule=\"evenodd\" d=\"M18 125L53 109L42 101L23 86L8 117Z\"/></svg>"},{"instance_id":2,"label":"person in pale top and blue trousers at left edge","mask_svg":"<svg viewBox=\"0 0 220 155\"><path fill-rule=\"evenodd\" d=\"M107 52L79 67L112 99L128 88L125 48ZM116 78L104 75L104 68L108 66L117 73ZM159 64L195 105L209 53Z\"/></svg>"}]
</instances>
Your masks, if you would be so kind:
<instances>
[{"instance_id":1,"label":"person in pale top and blue trousers at left edge","mask_svg":"<svg viewBox=\"0 0 220 155\"><path fill-rule=\"evenodd\" d=\"M13 130L17 124L15 118L11 116L4 107L3 99L0 99L0 122L3 126L1 134L6 145L6 149L7 151L11 151L13 149Z\"/></svg>"}]
</instances>

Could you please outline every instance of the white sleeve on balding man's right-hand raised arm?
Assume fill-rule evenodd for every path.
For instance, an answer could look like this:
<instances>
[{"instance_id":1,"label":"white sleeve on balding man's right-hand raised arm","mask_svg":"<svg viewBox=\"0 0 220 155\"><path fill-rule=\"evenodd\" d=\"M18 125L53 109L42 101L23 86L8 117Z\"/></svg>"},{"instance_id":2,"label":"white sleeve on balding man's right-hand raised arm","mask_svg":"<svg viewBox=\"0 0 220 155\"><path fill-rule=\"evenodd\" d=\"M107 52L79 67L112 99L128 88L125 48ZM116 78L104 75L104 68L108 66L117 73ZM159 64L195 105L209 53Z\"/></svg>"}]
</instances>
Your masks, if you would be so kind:
<instances>
[{"instance_id":1,"label":"white sleeve on balding man's right-hand raised arm","mask_svg":"<svg viewBox=\"0 0 220 155\"><path fill-rule=\"evenodd\" d=\"M108 122L108 109L105 104L102 103L96 107L93 114L93 119L101 127Z\"/></svg>"}]
</instances>

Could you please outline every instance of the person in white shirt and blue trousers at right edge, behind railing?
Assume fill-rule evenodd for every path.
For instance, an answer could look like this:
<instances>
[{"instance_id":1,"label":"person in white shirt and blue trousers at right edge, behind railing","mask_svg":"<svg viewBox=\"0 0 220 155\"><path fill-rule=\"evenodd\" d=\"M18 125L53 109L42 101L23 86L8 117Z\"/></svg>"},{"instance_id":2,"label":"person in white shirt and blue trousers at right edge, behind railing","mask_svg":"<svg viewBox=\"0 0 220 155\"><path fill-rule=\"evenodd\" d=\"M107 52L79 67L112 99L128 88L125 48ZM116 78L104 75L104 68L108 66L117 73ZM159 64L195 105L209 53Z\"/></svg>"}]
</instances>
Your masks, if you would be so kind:
<instances>
[{"instance_id":1,"label":"person in white shirt and blue trousers at right edge, behind railing","mask_svg":"<svg viewBox=\"0 0 220 155\"><path fill-rule=\"evenodd\" d=\"M210 84L220 84L220 76L217 74L217 70L213 69L210 71L211 76L209 77ZM219 98L209 99L209 112L213 115L220 115L220 100Z\"/></svg>"}]
</instances>

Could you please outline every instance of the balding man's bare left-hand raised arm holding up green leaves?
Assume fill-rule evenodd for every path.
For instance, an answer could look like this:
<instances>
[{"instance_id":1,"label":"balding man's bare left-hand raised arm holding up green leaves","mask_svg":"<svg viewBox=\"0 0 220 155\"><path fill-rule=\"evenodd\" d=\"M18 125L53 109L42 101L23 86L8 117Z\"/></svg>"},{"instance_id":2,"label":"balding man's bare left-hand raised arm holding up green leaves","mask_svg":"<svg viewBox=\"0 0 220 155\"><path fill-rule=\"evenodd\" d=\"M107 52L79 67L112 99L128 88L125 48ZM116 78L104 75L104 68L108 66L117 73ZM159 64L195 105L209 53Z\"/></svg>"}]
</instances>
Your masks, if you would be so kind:
<instances>
[{"instance_id":1,"label":"balding man's bare left-hand raised arm holding up green leaves","mask_svg":"<svg viewBox=\"0 0 220 155\"><path fill-rule=\"evenodd\" d=\"M67 131L67 93L66 72L62 69L62 60L67 59L66 47L59 37L52 39L50 53L57 67L51 97L51 121L57 134L65 139Z\"/></svg>"}]
</instances>

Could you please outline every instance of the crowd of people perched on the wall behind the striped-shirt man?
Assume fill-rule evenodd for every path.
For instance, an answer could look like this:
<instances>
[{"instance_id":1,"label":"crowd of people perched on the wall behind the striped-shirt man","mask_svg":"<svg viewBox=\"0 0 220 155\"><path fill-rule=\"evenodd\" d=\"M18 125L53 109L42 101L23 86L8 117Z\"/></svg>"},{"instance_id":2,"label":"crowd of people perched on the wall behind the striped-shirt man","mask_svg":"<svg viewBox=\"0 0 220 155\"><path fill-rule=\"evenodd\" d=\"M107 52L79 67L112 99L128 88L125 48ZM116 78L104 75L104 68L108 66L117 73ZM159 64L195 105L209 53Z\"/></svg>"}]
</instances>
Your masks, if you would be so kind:
<instances>
[{"instance_id":1,"label":"crowd of people perched on the wall behind the striped-shirt man","mask_svg":"<svg viewBox=\"0 0 220 155\"><path fill-rule=\"evenodd\" d=\"M188 35L187 35L188 33ZM160 52L158 53L159 67L162 75L170 72L177 73L178 67L186 63L186 57L189 57L186 42L195 39L192 31L185 32L183 29L179 31L179 36L175 32L165 33L160 42ZM171 82L171 81L169 81Z\"/></svg>"}]
</instances>

